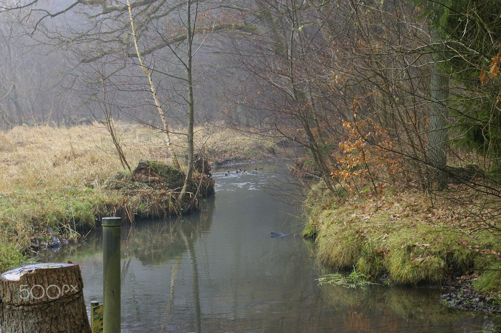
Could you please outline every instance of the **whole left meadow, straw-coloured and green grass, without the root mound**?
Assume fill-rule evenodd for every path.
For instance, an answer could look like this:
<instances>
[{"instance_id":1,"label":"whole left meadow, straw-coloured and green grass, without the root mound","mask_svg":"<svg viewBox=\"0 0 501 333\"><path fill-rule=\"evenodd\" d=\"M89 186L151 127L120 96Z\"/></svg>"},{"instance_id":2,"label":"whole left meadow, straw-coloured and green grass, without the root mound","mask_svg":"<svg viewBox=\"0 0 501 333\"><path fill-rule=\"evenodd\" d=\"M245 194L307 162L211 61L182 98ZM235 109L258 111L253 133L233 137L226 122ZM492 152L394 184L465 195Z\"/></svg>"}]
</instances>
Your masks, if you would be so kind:
<instances>
[{"instance_id":1,"label":"whole left meadow, straw-coloured and green grass, without the root mound","mask_svg":"<svg viewBox=\"0 0 501 333\"><path fill-rule=\"evenodd\" d=\"M141 159L171 164L162 133L118 124L117 134L132 168ZM182 138L173 139L183 161ZM266 159L275 152L269 142L228 129L198 128L195 146L203 146L216 164ZM122 170L110 136L98 126L20 126L0 132L0 272L20 264L25 258L20 250L34 235L49 239L46 226L75 239L78 230L95 227L99 216L161 216L173 202L172 191L135 185ZM110 187L110 180L124 186Z\"/></svg>"}]
</instances>

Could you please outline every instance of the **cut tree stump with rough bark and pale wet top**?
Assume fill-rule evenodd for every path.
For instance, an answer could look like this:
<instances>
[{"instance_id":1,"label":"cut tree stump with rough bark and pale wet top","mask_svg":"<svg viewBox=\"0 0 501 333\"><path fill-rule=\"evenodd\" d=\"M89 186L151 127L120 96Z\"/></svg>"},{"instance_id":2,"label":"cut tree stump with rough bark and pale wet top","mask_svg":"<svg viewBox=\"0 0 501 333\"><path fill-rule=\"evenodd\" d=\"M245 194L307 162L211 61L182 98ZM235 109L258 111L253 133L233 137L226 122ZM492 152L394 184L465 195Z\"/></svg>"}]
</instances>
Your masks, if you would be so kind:
<instances>
[{"instance_id":1,"label":"cut tree stump with rough bark and pale wet top","mask_svg":"<svg viewBox=\"0 0 501 333\"><path fill-rule=\"evenodd\" d=\"M2 333L91 333L80 267L39 263L0 277Z\"/></svg>"}]
</instances>

